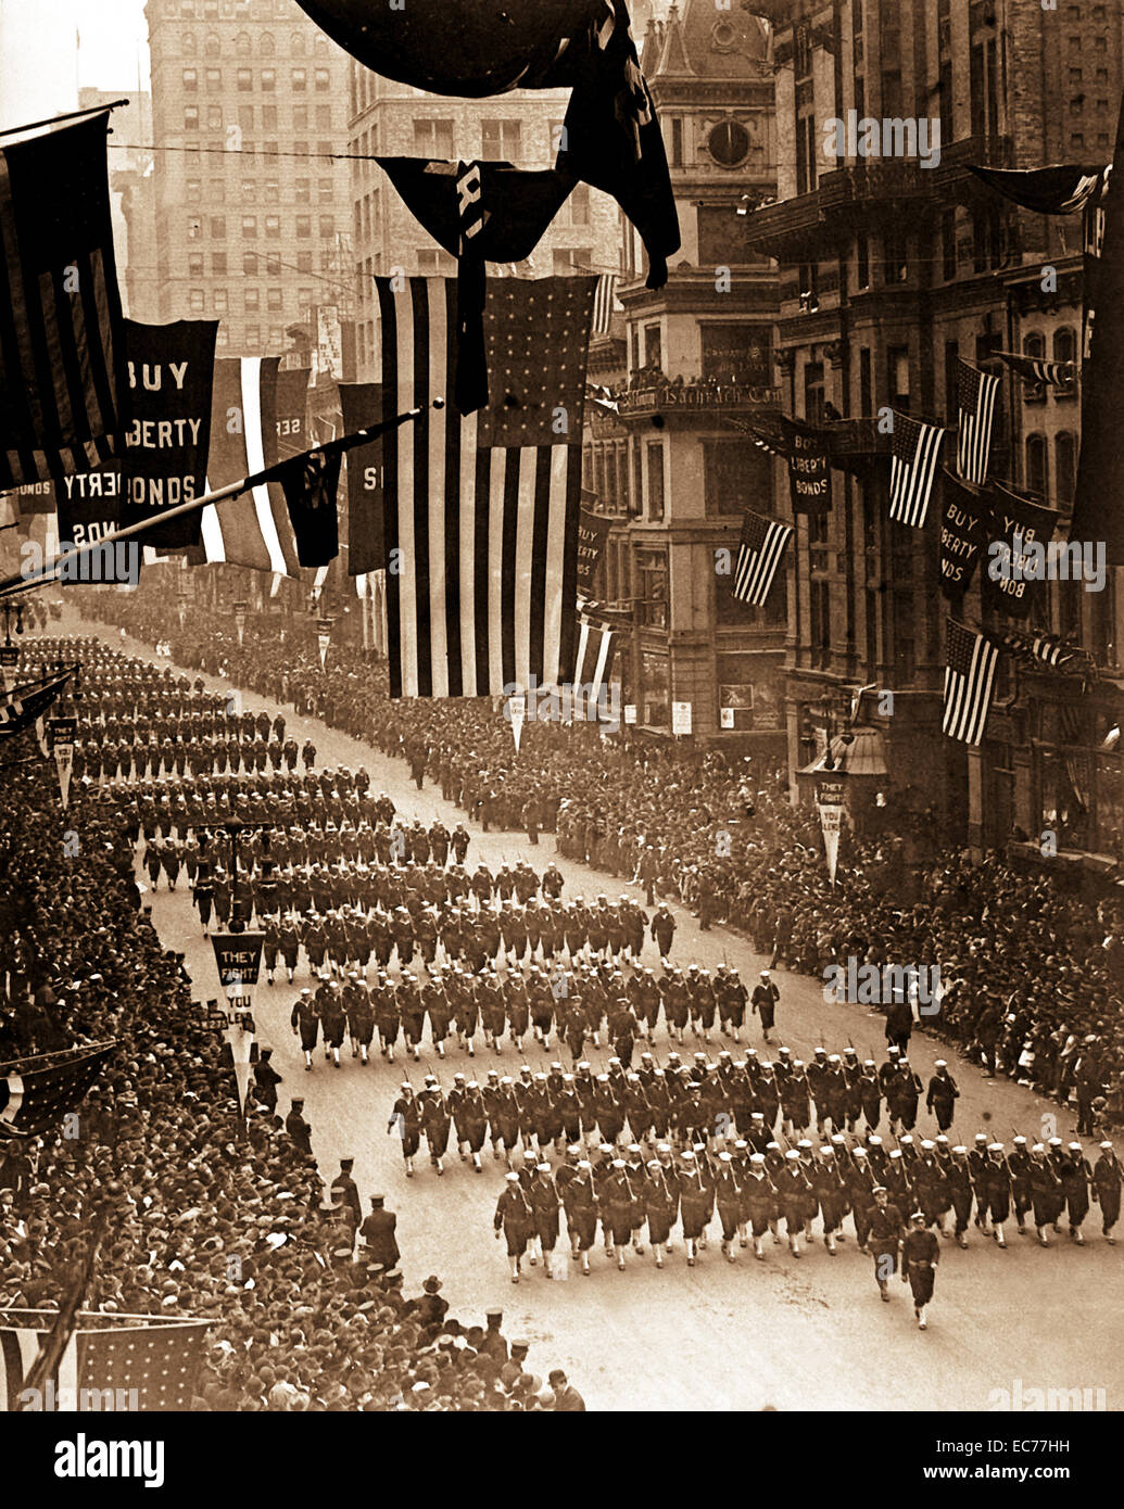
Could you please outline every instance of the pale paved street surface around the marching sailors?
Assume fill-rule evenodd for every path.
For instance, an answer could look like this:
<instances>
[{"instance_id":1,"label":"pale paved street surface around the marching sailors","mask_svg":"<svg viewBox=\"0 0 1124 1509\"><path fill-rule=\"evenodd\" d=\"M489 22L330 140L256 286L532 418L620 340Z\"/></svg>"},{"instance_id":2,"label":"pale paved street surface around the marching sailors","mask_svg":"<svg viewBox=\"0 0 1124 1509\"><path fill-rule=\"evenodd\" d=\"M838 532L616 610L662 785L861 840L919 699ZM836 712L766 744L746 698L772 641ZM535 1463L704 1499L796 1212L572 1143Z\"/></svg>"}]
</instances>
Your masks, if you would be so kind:
<instances>
[{"instance_id":1,"label":"pale paved street surface around the marching sailors","mask_svg":"<svg viewBox=\"0 0 1124 1509\"><path fill-rule=\"evenodd\" d=\"M122 644L110 631L78 626L69 616L63 628ZM154 659L136 641L124 647ZM214 678L208 681L225 687ZM263 702L255 694L247 700L252 706ZM406 819L416 815L428 822L441 815L451 827L462 816L428 785L418 792L400 762L315 720L296 718L290 708L264 705L270 712L285 712L299 741L312 738L318 765L365 764L374 789L388 791ZM527 856L542 869L552 856L549 834L533 848L519 834L484 834L477 825L469 831L469 866L483 859L495 868L504 857ZM558 865L566 877L564 895L588 898L628 889L643 901L635 887L622 887L611 877L561 859ZM169 896L161 889L151 899L166 945L187 955L198 997L217 994L211 946L201 936L187 892L181 887ZM694 917L674 910L674 958L712 969L726 958L753 981L762 960L744 939L724 928L700 933ZM641 963L658 964L650 940ZM881 1062L880 1020L861 1007L825 1003L816 981L806 976L782 970L779 981L779 1032L794 1052L807 1059L818 1044L837 1052L854 1038L863 1056ZM564 1367L591 1409L987 1409L993 1391L1012 1390L1017 1379L1023 1390L1103 1388L1107 1408L1121 1408L1124 1361L1116 1332L1124 1304L1124 1243L1110 1248L1103 1242L1095 1206L1085 1248L1062 1236L1043 1249L1033 1236L1017 1236L1014 1225L1006 1251L975 1228L967 1252L941 1243L937 1295L925 1334L916 1329L907 1286L896 1281L893 1302L880 1304L871 1260L857 1252L852 1233L836 1259L822 1243L813 1243L800 1262L786 1246L766 1243L766 1263L753 1262L750 1249L730 1265L718 1251L715 1222L711 1246L696 1269L685 1266L680 1240L662 1272L646 1251L644 1257L631 1252L628 1271L620 1274L594 1248L590 1277L569 1274L563 1237L552 1281L542 1268L525 1265L522 1283L513 1286L504 1243L492 1236L502 1165L486 1156L483 1174L475 1174L454 1154L438 1179L422 1144L418 1174L407 1180L397 1139L386 1135L389 1106L401 1082L401 1056L394 1065L376 1056L368 1068L347 1061L339 1071L320 1056L315 1070L305 1073L288 1013L306 982L300 973L294 987L279 982L270 990L263 976L255 1019L284 1074L279 1109L288 1109L288 1096L305 1097L324 1179L335 1176L341 1156L352 1154L364 1207L368 1194L383 1192L398 1213L407 1293L418 1293L433 1272L444 1278L454 1316L483 1319L486 1308L502 1305L507 1335L522 1334L533 1343L531 1366L540 1373ZM715 1041L711 1052L720 1046ZM662 1026L656 1050L667 1050ZM686 1052L693 1050L688 1038ZM555 1056L569 1068L566 1055L545 1055L537 1046L528 1049L525 1061L537 1070ZM594 1061L605 1056L591 1053ZM1070 1112L1008 1080L984 1079L925 1034L914 1035L910 1056L923 1079L934 1058L949 1059L961 1088L954 1130L966 1142L981 1129L1008 1144L1015 1129L1041 1135L1046 1127L1050 1135L1052 1124L1044 1120L1050 1117L1056 1117L1059 1136L1068 1141L1076 1135ZM435 1058L431 1049L424 1049L421 1064L410 1062L415 1083L430 1070L448 1083L457 1070L469 1077L475 1070L483 1077L492 1064L501 1073L516 1073L521 1062L510 1046L501 1058L478 1053L466 1059L456 1047L444 1065ZM937 1129L922 1114L917 1130L935 1135Z\"/></svg>"}]
</instances>

